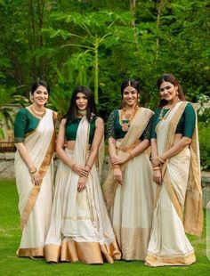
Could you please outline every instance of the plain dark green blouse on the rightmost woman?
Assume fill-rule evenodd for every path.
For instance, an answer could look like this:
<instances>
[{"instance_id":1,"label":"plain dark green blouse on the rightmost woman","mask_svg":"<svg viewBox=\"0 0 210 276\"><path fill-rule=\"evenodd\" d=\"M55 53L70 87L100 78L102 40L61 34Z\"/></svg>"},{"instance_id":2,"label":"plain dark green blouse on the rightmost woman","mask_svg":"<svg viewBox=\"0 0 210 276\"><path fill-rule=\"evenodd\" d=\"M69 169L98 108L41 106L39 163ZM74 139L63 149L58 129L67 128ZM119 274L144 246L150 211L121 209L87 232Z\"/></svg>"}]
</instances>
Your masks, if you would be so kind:
<instances>
[{"instance_id":1,"label":"plain dark green blouse on the rightmost woman","mask_svg":"<svg viewBox=\"0 0 210 276\"><path fill-rule=\"evenodd\" d=\"M162 108L158 108L155 111L155 115L153 118L151 138L154 138L154 139L157 139L155 128L158 125L158 122L160 121L159 114L161 110ZM163 116L166 115L167 111L168 110L164 109ZM195 128L195 122L196 122L195 110L193 109L191 103L189 102L182 113L182 117L180 118L180 121L176 127L175 133L182 134L183 137L191 138Z\"/></svg>"}]
</instances>

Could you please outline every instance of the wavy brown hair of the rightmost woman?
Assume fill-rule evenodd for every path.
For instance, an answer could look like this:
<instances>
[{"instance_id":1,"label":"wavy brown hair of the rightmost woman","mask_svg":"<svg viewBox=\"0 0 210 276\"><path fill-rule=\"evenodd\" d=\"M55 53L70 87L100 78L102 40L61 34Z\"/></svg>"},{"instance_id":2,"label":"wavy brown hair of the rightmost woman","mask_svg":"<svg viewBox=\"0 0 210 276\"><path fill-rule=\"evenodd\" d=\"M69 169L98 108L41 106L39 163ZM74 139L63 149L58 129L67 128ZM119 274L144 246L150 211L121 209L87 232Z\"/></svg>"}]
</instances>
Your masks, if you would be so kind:
<instances>
[{"instance_id":1,"label":"wavy brown hair of the rightmost woman","mask_svg":"<svg viewBox=\"0 0 210 276\"><path fill-rule=\"evenodd\" d=\"M164 74L161 77L159 77L158 80L157 80L158 89L160 88L160 85L165 81L169 82L169 83L171 83L175 86L178 86L178 98L181 101L186 101L183 90L182 90L182 86L180 85L180 83L178 82L176 77L174 77L173 74ZM167 103L167 101L165 99L160 99L160 101L158 103L158 107L162 108L163 106L166 105L166 103Z\"/></svg>"}]
</instances>

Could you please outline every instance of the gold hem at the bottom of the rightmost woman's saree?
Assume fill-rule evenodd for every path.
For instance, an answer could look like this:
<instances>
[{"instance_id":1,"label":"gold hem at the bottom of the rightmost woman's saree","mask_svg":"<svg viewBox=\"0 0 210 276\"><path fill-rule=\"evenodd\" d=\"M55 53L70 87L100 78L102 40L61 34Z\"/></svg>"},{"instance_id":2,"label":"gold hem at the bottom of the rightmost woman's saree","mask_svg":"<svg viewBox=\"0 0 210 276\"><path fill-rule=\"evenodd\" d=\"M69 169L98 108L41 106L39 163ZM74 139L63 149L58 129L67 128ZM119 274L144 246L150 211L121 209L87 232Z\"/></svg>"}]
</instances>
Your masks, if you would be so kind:
<instances>
[{"instance_id":1,"label":"gold hem at the bottom of the rightmost woman's saree","mask_svg":"<svg viewBox=\"0 0 210 276\"><path fill-rule=\"evenodd\" d=\"M148 252L145 265L148 266L166 266L166 265L190 265L196 262L194 251L177 256L157 256Z\"/></svg>"}]
</instances>

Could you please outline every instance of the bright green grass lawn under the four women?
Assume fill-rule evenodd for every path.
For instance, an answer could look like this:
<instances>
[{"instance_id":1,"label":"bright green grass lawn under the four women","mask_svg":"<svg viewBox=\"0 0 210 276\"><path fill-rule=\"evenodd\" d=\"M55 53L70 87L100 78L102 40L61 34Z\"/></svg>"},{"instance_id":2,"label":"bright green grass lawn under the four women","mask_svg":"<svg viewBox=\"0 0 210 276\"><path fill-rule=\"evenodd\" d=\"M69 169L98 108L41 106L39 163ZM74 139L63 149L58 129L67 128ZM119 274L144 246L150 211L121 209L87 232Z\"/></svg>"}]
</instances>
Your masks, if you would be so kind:
<instances>
[{"instance_id":1,"label":"bright green grass lawn under the four women","mask_svg":"<svg viewBox=\"0 0 210 276\"><path fill-rule=\"evenodd\" d=\"M44 259L19 258L15 254L20 242L18 195L14 182L0 181L0 275L210 275L205 231L201 239L190 237L190 240L196 250L197 262L183 267L150 268L141 261L102 265L46 264Z\"/></svg>"}]
</instances>

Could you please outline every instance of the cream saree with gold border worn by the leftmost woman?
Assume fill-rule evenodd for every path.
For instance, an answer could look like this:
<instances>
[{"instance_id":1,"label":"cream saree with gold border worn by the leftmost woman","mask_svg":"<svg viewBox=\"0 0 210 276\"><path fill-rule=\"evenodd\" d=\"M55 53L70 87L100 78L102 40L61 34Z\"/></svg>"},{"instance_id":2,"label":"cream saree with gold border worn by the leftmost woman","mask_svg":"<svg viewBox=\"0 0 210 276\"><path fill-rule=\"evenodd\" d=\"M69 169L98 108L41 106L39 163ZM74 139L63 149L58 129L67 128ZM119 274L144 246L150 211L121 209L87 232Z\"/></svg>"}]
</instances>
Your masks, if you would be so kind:
<instances>
[{"instance_id":1,"label":"cream saree with gold border worn by the leftmost woman","mask_svg":"<svg viewBox=\"0 0 210 276\"><path fill-rule=\"evenodd\" d=\"M14 168L19 193L22 236L18 256L44 256L44 240L49 229L52 208L52 155L55 148L56 113L46 109L36 129L24 140L28 155L42 179L33 185L28 166L16 152Z\"/></svg>"}]
</instances>

